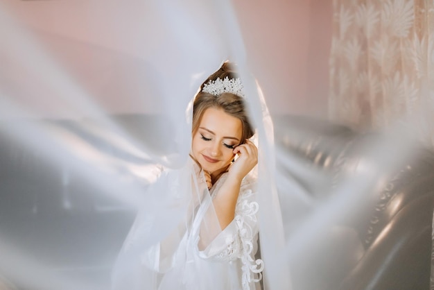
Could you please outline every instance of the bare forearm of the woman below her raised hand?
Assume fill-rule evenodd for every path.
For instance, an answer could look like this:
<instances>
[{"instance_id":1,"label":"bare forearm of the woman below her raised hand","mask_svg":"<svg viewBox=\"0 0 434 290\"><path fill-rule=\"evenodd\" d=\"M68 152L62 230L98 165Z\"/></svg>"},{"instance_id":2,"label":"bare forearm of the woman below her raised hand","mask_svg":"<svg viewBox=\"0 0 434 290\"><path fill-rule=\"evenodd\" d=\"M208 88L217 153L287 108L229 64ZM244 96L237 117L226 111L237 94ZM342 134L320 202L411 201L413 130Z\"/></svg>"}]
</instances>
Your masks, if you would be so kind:
<instances>
[{"instance_id":1,"label":"bare forearm of the woman below her raised hand","mask_svg":"<svg viewBox=\"0 0 434 290\"><path fill-rule=\"evenodd\" d=\"M216 198L214 198L214 210L216 211L218 222L222 230L234 219L241 181L241 178L228 176L216 193Z\"/></svg>"}]
</instances>

